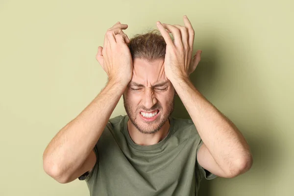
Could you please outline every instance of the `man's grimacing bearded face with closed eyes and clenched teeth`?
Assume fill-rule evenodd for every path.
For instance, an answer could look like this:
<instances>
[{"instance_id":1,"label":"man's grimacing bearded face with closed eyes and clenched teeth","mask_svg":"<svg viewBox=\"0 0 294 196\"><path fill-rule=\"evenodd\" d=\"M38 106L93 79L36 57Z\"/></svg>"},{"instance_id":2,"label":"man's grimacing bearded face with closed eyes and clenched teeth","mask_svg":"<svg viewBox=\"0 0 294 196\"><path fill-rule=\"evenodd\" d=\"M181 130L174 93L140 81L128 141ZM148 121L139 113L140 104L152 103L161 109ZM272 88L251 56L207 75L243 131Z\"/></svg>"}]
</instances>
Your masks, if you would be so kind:
<instances>
[{"instance_id":1,"label":"man's grimacing bearded face with closed eyes and clenched teeth","mask_svg":"<svg viewBox=\"0 0 294 196\"><path fill-rule=\"evenodd\" d=\"M133 77L123 93L125 111L141 133L157 132L169 119L174 88L165 75L164 60L133 60Z\"/></svg>"}]
</instances>

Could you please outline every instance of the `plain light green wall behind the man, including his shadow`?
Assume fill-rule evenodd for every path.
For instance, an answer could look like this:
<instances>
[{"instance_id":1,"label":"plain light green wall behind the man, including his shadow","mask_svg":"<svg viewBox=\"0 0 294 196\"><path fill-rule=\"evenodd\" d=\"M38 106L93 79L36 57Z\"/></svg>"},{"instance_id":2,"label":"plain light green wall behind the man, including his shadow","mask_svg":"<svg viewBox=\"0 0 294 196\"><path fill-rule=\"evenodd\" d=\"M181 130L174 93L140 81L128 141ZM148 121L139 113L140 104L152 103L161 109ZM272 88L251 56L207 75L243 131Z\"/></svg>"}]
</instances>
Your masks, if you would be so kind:
<instances>
[{"instance_id":1,"label":"plain light green wall behind the man, including his shadow","mask_svg":"<svg viewBox=\"0 0 294 196\"><path fill-rule=\"evenodd\" d=\"M42 166L49 141L106 83L95 59L120 21L130 37L156 21L195 28L193 82L248 140L252 169L202 183L201 196L294 195L293 0L1 0L0 196L86 196ZM124 115L122 99L112 117ZM189 118L180 99L173 114Z\"/></svg>"}]
</instances>

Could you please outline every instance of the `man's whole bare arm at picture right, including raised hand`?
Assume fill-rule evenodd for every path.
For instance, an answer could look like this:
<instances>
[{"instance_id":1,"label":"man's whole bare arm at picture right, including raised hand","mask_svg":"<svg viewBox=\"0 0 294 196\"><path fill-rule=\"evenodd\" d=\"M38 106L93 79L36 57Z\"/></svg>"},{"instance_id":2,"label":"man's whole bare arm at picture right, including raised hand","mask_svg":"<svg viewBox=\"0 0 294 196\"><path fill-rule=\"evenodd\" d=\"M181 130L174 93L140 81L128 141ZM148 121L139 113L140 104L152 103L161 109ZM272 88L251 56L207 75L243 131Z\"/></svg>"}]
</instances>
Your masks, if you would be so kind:
<instances>
[{"instance_id":1,"label":"man's whole bare arm at picture right, including raised hand","mask_svg":"<svg viewBox=\"0 0 294 196\"><path fill-rule=\"evenodd\" d=\"M185 26L159 22L157 25L167 43L165 73L204 143L197 153L198 163L214 174L234 177L250 169L252 155L238 128L206 100L190 81L189 75L199 63L201 51L197 51L192 58L195 31L188 17L184 16L183 19ZM166 29L172 32L174 41Z\"/></svg>"}]
</instances>

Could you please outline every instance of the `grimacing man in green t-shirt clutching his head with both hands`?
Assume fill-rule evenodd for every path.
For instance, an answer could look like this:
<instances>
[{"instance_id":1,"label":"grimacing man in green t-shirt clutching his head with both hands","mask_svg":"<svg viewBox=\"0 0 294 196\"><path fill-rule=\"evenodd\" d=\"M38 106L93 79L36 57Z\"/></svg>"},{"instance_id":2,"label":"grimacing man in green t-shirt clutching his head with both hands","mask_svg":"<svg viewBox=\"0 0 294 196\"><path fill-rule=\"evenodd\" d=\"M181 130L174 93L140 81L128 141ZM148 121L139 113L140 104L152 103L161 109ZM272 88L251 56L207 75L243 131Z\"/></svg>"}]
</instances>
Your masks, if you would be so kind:
<instances>
[{"instance_id":1,"label":"grimacing man in green t-shirt clutching his head with both hands","mask_svg":"<svg viewBox=\"0 0 294 196\"><path fill-rule=\"evenodd\" d=\"M107 30L97 60L108 82L49 143L45 172L85 179L91 196L195 196L202 178L250 169L245 138L189 79L201 51L192 58L194 29L183 19L131 40L127 25ZM175 94L192 120L171 117ZM109 119L122 95L127 115Z\"/></svg>"}]
</instances>

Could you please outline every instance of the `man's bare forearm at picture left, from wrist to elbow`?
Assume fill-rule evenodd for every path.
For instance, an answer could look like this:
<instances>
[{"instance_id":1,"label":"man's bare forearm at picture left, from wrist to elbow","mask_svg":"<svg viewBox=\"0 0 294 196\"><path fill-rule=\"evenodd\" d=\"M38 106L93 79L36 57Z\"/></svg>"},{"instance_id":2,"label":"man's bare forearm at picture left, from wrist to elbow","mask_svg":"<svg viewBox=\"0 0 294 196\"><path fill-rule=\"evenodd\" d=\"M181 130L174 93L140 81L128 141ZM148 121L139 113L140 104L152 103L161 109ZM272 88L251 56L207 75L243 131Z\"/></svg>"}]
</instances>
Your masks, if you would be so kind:
<instances>
[{"instance_id":1,"label":"man's bare forearm at picture left, from wrist to elbow","mask_svg":"<svg viewBox=\"0 0 294 196\"><path fill-rule=\"evenodd\" d=\"M45 170L68 175L82 166L98 142L124 88L108 82L98 96L56 134L43 154Z\"/></svg>"}]
</instances>

